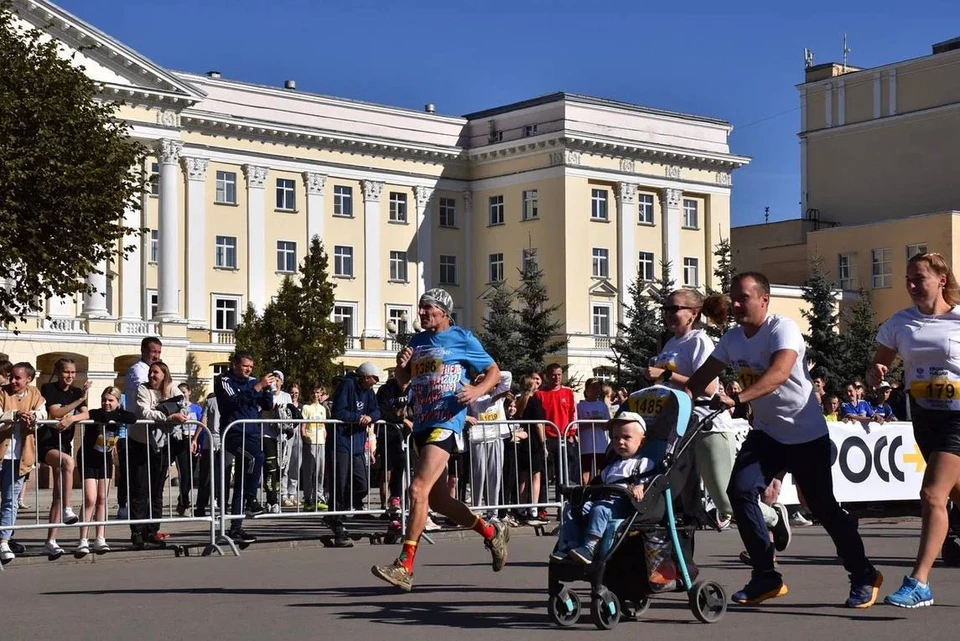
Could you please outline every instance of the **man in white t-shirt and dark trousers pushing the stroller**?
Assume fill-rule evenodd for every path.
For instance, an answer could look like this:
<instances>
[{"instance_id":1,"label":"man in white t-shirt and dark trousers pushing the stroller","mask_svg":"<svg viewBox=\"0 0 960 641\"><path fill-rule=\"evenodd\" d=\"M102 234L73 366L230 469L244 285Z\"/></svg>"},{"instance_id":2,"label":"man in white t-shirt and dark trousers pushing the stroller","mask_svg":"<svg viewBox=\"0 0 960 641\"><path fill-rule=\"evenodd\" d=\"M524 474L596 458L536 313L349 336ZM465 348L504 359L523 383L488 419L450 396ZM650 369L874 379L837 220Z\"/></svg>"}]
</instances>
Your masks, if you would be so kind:
<instances>
[{"instance_id":1,"label":"man in white t-shirt and dark trousers pushing the stroller","mask_svg":"<svg viewBox=\"0 0 960 641\"><path fill-rule=\"evenodd\" d=\"M758 505L770 481L786 470L850 573L846 606L868 608L877 599L883 576L867 559L856 522L833 495L830 436L806 368L803 335L789 318L768 314L770 283L763 274L738 275L730 297L739 327L723 335L687 389L694 397L701 395L724 367L733 365L743 391L720 399L730 407L750 403L753 408L753 429L737 455L727 488L753 575L732 599L756 604L787 593Z\"/></svg>"}]
</instances>

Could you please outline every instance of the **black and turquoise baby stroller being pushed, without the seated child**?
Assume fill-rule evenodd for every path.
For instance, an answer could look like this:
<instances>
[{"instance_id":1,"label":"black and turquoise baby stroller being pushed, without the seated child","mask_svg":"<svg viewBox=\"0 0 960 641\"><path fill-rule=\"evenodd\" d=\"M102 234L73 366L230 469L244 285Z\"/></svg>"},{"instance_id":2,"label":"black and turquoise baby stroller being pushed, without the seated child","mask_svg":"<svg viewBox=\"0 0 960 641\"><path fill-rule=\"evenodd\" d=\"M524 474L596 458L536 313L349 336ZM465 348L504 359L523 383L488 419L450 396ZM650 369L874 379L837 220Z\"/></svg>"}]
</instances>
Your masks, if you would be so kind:
<instances>
[{"instance_id":1,"label":"black and turquoise baby stroller being pushed, without the seated child","mask_svg":"<svg viewBox=\"0 0 960 641\"><path fill-rule=\"evenodd\" d=\"M658 589L662 585L649 581L649 540L659 539L665 544L663 553L676 568L676 581L666 591L686 592L693 615L704 623L715 623L726 612L727 594L719 583L696 581L699 570L693 563L693 535L701 524L703 507L692 445L700 430L709 429L725 408L698 420L686 393L658 384L632 395L625 409L644 417L647 432L640 454L658 464L641 501L634 501L620 486L591 483L562 488L567 499L564 518L571 507L617 495L628 497L634 511L628 518L610 521L589 565L551 555L550 618L562 627L577 623L581 601L568 584L586 581L590 584L591 618L598 628L613 629L621 618L639 619L651 599L664 591ZM561 549L562 543L558 541L555 549Z\"/></svg>"}]
</instances>

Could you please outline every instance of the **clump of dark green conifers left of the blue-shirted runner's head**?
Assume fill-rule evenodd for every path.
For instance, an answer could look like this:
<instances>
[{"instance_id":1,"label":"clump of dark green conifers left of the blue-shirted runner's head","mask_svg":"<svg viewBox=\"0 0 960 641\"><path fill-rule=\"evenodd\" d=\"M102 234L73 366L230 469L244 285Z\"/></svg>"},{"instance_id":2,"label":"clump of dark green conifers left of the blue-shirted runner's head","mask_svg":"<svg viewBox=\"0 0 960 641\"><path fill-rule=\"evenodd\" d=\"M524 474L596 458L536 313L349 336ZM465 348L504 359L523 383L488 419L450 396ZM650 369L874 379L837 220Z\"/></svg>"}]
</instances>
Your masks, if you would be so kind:
<instances>
[{"instance_id":1,"label":"clump of dark green conifers left of the blue-shirted runner's head","mask_svg":"<svg viewBox=\"0 0 960 641\"><path fill-rule=\"evenodd\" d=\"M330 320L334 286L327 254L318 236L300 266L300 282L283 279L276 299L258 314L251 306L235 330L238 348L249 350L257 374L280 369L302 385L330 384L342 373L346 329Z\"/></svg>"}]
</instances>

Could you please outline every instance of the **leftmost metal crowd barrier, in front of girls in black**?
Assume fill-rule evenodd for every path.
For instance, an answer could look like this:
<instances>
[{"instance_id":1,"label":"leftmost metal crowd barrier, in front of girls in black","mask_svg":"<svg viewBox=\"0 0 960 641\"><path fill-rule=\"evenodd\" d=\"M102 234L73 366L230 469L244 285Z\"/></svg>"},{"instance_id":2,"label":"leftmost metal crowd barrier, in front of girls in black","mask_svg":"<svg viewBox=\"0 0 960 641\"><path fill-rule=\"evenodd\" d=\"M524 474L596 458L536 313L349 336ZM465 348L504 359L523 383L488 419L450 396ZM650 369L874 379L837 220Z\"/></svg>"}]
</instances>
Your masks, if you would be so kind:
<instances>
[{"instance_id":1,"label":"leftmost metal crowd barrier, in front of girls in black","mask_svg":"<svg viewBox=\"0 0 960 641\"><path fill-rule=\"evenodd\" d=\"M10 424L10 421L6 422ZM28 472L36 474L40 464L47 464L44 459L49 460L53 452L56 462L48 465L53 470L54 482L52 484L52 500L50 504L47 521L41 522L41 501L39 483L34 485L33 502L34 517L32 523L17 524L16 520L20 516L18 503L20 492L26 481L27 474L21 476L19 469L14 470L12 462L8 465L9 459L3 462L4 494L9 492L9 496L4 496L4 502L11 501L12 505L5 506L13 515L13 523L0 526L0 531L4 533L16 532L22 530L43 530L47 529L48 539L53 538L57 530L62 528L80 528L81 534L88 534L88 529L96 528L99 534L107 526L128 526L134 529L136 526L159 525L160 523L176 521L177 523L206 523L210 526L209 542L204 547L203 555L209 555L212 552L223 554L223 551L217 545L216 540L216 519L213 510L209 515L204 516L174 516L171 484L167 484L168 509L167 513L163 511L163 487L161 483L166 483L170 466L174 464L175 457L172 454L170 441L176 440L174 434L177 431L182 433L183 426L192 427L196 430L202 430L207 440L212 441L210 431L199 421L187 421L183 424L163 423L155 421L137 421L127 426L127 443L122 448L122 452L117 448L117 435L121 426L116 423L96 423L93 420L78 421L73 423L67 430L57 429L59 421L43 420L37 421L31 428L35 443L37 444L36 466ZM14 425L16 423L14 422ZM143 437L150 438L150 428L160 426L168 435L168 442L160 449L154 450L150 446L150 441L139 441L131 437L143 432ZM116 428L110 429L110 428ZM14 427L14 429L17 429ZM55 438L51 438L55 436ZM190 443L180 437L178 447L186 447L186 454L189 457L189 473L180 476L180 483L186 482L186 491L178 488L178 493L182 496L190 496L194 489L193 480L193 455L190 452ZM74 445L79 444L79 448L74 449ZM21 443L20 447L23 446ZM212 465L213 448L208 448L209 462ZM74 452L76 456L74 456ZM133 455L133 464L131 465L131 454ZM166 456L166 461L162 458ZM142 456L142 458L141 458ZM114 457L117 458L116 462ZM16 459L19 461L20 459ZM165 465L164 465L165 464ZM107 505L111 481L120 473L121 466L124 474L124 483L128 502L131 508L136 504L136 508L130 510L129 518L110 519L107 514L109 506ZM6 469L6 468L9 468ZM81 479L81 494L83 496L82 509L80 515L72 511L73 503L73 481L74 472L79 468ZM131 474L131 471L135 473ZM9 478L6 474L9 473ZM157 475L162 475L158 477ZM94 481L91 488L93 500L88 500L87 481ZM215 478L213 474L209 475L209 486L206 488L210 496L213 496L215 488ZM68 489L69 487L69 489ZM159 506L159 507L158 507ZM102 513L102 517L100 514ZM142 530L141 530L142 533ZM4 538L9 538L5 536ZM80 538L89 538L81 536ZM182 546L170 546L180 556L186 552ZM102 548L101 548L102 550ZM96 552L97 548L91 548L91 552ZM66 550L64 550L66 553ZM76 552L75 552L76 554ZM59 555L58 555L59 556Z\"/></svg>"}]
</instances>

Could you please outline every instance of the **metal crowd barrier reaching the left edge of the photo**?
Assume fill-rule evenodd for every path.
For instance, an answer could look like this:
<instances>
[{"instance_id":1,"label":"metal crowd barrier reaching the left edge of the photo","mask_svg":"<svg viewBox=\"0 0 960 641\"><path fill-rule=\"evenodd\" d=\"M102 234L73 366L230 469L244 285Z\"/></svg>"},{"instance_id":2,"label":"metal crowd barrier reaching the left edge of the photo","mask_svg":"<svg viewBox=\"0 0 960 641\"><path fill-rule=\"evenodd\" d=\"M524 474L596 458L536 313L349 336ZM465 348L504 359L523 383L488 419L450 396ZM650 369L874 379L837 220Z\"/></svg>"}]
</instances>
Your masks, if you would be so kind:
<instances>
[{"instance_id":1,"label":"metal crowd barrier reaching the left edge of the photo","mask_svg":"<svg viewBox=\"0 0 960 641\"><path fill-rule=\"evenodd\" d=\"M9 422L8 422L9 424ZM213 511L203 516L180 516L174 514L174 488L171 483L167 483L169 469L179 459L181 468L178 474L179 487L176 489L178 496L191 496L195 488L194 467L195 465L210 469L213 463L213 449L207 448L206 453L200 452L200 456L194 456L191 452L191 436L193 430L202 430L209 443L212 440L210 431L199 421L186 421L183 424L161 423L155 421L137 421L134 424L127 425L127 436L125 439L119 439L118 434L121 426L114 423L106 425L97 424L92 420L80 421L73 424L73 438L68 443L64 439L64 432L56 428L58 421L44 420L37 421L33 426L33 435L35 443L40 445L41 438L48 444L41 451L36 452L36 466L30 471L34 476L39 473L41 456L49 456L53 451L50 447L51 441L49 435L55 436L57 452L69 450L69 454L55 455L56 462L49 465L53 483L50 489L40 489L39 479L35 479L34 491L31 496L22 497L20 491L26 482L26 475L20 476L19 470L14 469L12 465L6 465L2 481L5 503L9 503L9 514L13 515L15 522L12 525L3 525L0 531L14 532L24 530L63 530L80 528L86 530L87 538L91 542L95 537L90 536L90 530L106 526L159 526L161 523L176 521L177 523L200 523L209 525L209 539L206 543L203 554L209 555L217 553L222 555L223 551L217 543L216 520ZM150 438L151 429L160 428L167 434L167 444L162 448L154 450L146 445L149 441L137 441L131 436L131 432L139 435L142 431L143 436ZM96 434L89 434L88 430L96 430ZM88 439L88 436L90 437ZM139 446L138 443L144 443ZM21 444L22 447L23 444ZM131 456L133 457L131 460ZM87 476L100 477L107 476L109 470L110 479L91 478ZM68 518L66 508L75 507L73 503L74 492L76 488L75 478L79 476L80 483L80 511L75 513L77 520ZM203 475L201 475L203 476ZM109 498L111 485L117 482L121 477L121 484L117 484L118 494L123 494L127 499L128 518L109 518ZM93 488L93 500L87 500L86 481L97 481ZM206 491L213 496L214 475L206 475ZM67 490L69 485L70 490ZM104 495L103 501L98 501L99 490L96 485L102 485ZM166 511L164 511L163 491L166 485L167 501ZM51 504L48 510L42 510L41 497L46 492L51 492ZM33 502L32 516L24 518L25 510L18 508L21 498L26 498ZM91 504L92 503L92 504ZM97 513L102 510L103 517L98 518ZM41 517L43 520L41 521ZM67 522L67 521L70 522ZM30 521L30 522L24 522ZM128 535L129 536L129 535ZM109 541L107 541L109 545ZM64 553L71 553L70 547L64 547ZM183 550L175 547L179 555ZM91 553L94 549L91 548ZM2 567L2 566L0 566Z\"/></svg>"}]
</instances>

